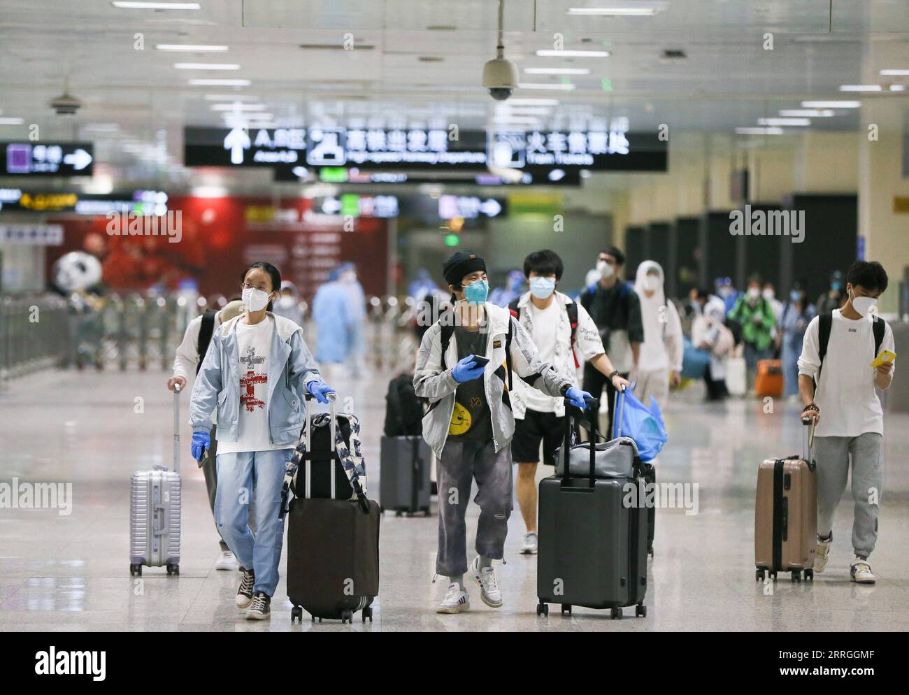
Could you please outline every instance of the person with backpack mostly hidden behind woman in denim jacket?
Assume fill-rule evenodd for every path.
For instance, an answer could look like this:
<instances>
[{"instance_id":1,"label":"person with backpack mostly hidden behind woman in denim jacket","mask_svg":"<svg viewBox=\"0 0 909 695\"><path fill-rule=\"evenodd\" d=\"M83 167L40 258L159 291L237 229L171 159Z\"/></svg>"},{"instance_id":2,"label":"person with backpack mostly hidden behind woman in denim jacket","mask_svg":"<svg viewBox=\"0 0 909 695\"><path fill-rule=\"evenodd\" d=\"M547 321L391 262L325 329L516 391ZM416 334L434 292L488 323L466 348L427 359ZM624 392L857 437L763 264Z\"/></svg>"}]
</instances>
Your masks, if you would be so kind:
<instances>
[{"instance_id":1,"label":"person with backpack mostly hidden behind woman in denim jacket","mask_svg":"<svg viewBox=\"0 0 909 695\"><path fill-rule=\"evenodd\" d=\"M225 304L219 312L214 309L207 309L186 325L186 331L183 334L183 342L176 349L174 357L174 375L167 380L167 388L176 391L177 385L180 391L185 391L186 382L189 381L191 373L198 373L202 366L202 360L205 358L205 352L208 351L208 345L212 341L212 334L215 329L222 323L227 323L235 316L243 313L243 302L235 300ZM208 492L208 506L211 507L212 514L215 514L215 491L218 488L218 472L215 464L217 452L217 440L215 439L215 425L212 424L212 447L208 456L203 459L199 466L205 474L205 490ZM250 515L252 521L252 515ZM217 528L215 526L215 528ZM218 536L220 536L220 531ZM221 540L221 555L215 561L215 570L238 570L234 553L227 547L224 539Z\"/></svg>"}]
</instances>

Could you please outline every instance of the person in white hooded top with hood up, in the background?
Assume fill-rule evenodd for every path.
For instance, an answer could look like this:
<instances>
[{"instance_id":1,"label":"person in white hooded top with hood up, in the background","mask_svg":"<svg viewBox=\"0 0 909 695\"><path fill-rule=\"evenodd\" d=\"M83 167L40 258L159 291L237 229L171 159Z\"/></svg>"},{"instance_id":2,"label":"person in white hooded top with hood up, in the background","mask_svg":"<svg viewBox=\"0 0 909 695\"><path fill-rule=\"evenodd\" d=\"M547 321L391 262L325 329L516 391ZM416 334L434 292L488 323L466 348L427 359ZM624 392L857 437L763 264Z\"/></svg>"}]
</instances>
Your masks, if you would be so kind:
<instances>
[{"instance_id":1,"label":"person in white hooded top with hood up, in the background","mask_svg":"<svg viewBox=\"0 0 909 695\"><path fill-rule=\"evenodd\" d=\"M670 382L679 382L684 351L682 322L674 303L666 301L663 283L659 263L644 261L637 266L634 292L641 300L644 343L633 374L634 394L645 404L653 396L661 407L669 397Z\"/></svg>"}]
</instances>

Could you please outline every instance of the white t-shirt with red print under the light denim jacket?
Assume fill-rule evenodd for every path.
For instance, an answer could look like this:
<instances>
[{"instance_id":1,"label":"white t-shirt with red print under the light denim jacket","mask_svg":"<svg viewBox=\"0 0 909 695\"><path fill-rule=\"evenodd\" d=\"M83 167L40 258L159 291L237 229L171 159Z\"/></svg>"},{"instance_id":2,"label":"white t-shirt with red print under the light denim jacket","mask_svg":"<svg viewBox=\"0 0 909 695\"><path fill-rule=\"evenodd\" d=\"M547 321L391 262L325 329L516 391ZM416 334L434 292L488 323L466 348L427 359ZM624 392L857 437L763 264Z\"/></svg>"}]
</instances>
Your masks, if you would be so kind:
<instances>
[{"instance_id":1,"label":"white t-shirt with red print under the light denim jacket","mask_svg":"<svg viewBox=\"0 0 909 695\"><path fill-rule=\"evenodd\" d=\"M268 366L272 359L275 322L266 318L255 325L235 323L240 355L240 418L237 441L218 442L218 453L269 452L293 449L295 442L273 444L268 434Z\"/></svg>"}]
</instances>

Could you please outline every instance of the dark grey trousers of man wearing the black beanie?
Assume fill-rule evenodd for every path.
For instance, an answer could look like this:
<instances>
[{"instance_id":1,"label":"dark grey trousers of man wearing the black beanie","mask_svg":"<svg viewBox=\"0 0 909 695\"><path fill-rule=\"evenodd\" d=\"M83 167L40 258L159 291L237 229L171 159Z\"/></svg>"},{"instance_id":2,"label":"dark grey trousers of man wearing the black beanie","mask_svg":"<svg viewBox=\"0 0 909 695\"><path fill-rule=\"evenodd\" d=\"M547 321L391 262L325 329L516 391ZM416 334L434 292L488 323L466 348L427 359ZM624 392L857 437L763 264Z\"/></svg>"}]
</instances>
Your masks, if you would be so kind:
<instances>
[{"instance_id":1,"label":"dark grey trousers of man wearing the black beanie","mask_svg":"<svg viewBox=\"0 0 909 695\"><path fill-rule=\"evenodd\" d=\"M467 525L464 515L473 479L480 505L476 552L501 560L512 512L511 446L496 453L493 442L448 440L438 462L439 552L435 571L456 577L467 571Z\"/></svg>"}]
</instances>

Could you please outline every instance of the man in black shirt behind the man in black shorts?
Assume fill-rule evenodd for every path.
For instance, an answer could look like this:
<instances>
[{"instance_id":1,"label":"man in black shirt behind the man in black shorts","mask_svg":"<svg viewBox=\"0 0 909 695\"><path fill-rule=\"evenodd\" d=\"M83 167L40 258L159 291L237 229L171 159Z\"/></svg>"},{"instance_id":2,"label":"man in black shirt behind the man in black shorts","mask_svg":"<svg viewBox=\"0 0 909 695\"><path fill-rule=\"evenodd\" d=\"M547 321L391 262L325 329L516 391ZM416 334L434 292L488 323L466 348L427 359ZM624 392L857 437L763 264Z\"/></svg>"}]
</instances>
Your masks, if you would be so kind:
<instances>
[{"instance_id":1,"label":"man in black shirt behind the man in black shorts","mask_svg":"<svg viewBox=\"0 0 909 695\"><path fill-rule=\"evenodd\" d=\"M624 253L615 246L600 252L596 270L600 273L600 281L581 293L580 303L594 319L600 340L614 368L623 379L628 379L637 367L641 343L644 343L641 302L631 284L623 279ZM614 383L590 362L584 364L584 391L599 398L604 386L609 408L606 432L612 436L616 393Z\"/></svg>"}]
</instances>

